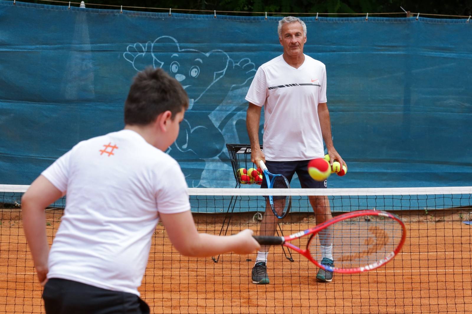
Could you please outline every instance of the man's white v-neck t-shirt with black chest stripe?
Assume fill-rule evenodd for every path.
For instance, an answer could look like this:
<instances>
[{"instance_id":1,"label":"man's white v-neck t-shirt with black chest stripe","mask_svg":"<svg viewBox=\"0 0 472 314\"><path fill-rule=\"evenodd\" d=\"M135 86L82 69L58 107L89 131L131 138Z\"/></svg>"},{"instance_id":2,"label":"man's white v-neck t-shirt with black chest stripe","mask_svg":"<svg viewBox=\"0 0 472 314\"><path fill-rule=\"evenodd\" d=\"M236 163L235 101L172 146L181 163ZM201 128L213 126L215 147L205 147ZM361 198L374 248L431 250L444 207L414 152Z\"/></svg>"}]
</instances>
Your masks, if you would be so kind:
<instances>
[{"instance_id":1,"label":"man's white v-neck t-shirt with black chest stripe","mask_svg":"<svg viewBox=\"0 0 472 314\"><path fill-rule=\"evenodd\" d=\"M246 100L264 106L264 155L272 161L324 157L318 104L326 102L326 66L307 55L295 69L282 55L259 67Z\"/></svg>"}]
</instances>

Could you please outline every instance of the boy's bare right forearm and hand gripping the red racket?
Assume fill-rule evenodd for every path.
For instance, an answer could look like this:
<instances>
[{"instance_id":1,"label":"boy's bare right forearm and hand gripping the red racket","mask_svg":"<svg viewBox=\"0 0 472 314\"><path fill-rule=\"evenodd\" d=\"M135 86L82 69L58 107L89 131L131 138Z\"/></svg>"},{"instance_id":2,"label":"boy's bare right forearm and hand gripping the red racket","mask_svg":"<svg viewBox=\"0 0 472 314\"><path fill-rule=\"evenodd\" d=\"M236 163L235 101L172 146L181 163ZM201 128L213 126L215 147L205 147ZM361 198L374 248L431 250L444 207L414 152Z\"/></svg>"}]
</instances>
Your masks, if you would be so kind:
<instances>
[{"instance_id":1,"label":"boy's bare right forearm and hand gripping the red racket","mask_svg":"<svg viewBox=\"0 0 472 314\"><path fill-rule=\"evenodd\" d=\"M246 229L232 236L198 233L190 210L177 214L159 214L177 251L185 256L207 257L227 252L250 254L261 248Z\"/></svg>"}]
</instances>

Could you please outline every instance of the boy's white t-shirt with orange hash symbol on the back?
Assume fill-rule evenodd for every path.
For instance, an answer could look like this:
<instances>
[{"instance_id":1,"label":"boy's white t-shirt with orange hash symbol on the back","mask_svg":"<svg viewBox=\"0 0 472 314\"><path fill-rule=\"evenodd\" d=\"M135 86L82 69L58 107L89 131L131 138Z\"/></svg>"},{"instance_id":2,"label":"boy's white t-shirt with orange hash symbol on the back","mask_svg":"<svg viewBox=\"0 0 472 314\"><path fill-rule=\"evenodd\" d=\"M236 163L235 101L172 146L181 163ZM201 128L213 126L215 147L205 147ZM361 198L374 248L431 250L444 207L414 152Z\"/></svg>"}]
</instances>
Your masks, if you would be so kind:
<instances>
[{"instance_id":1,"label":"boy's white t-shirt with orange hash symbol on the back","mask_svg":"<svg viewBox=\"0 0 472 314\"><path fill-rule=\"evenodd\" d=\"M158 214L190 209L177 162L122 130L78 143L42 175L67 192L48 278L139 296Z\"/></svg>"}]
</instances>

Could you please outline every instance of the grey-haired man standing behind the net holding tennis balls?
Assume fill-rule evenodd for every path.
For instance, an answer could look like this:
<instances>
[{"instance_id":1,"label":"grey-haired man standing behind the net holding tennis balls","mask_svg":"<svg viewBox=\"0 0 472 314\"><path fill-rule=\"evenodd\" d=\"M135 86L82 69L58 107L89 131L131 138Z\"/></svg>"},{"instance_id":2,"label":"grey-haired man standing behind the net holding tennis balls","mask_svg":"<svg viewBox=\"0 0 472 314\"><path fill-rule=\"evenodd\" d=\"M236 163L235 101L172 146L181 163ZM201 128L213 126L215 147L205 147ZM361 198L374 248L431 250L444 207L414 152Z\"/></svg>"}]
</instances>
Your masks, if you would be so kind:
<instances>
[{"instance_id":1,"label":"grey-haired man standing behind the net holding tennis balls","mask_svg":"<svg viewBox=\"0 0 472 314\"><path fill-rule=\"evenodd\" d=\"M330 163L337 160L346 165L337 153L331 139L331 123L326 105L326 67L303 54L306 42L306 25L297 17L285 17L278 22L278 38L284 52L264 63L257 70L246 96L249 101L246 126L251 141L251 160L259 165L263 160L270 173L283 174L288 181L297 173L302 188L326 188L327 182L313 180L307 171L308 162L324 157L323 139L328 149ZM264 152L259 146L259 121L264 107ZM267 188L265 180L261 188ZM310 204L316 222L331 218L326 196L310 196ZM269 201L262 219L259 234L273 236L276 217L272 215ZM320 235L321 264L333 265L332 235ZM252 271L253 283L267 284L268 246L257 253ZM318 281L330 282L333 273L320 269Z\"/></svg>"}]
</instances>

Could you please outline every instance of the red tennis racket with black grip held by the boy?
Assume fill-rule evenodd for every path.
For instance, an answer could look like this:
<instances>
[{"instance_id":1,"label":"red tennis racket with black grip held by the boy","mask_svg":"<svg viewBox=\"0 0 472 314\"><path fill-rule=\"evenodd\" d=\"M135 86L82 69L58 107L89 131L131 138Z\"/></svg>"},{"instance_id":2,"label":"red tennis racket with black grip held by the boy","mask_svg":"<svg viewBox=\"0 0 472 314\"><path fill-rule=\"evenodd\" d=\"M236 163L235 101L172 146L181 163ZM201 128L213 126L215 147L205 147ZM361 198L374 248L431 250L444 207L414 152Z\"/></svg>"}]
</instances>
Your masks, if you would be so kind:
<instances>
[{"instance_id":1,"label":"red tennis racket with black grip held by the boy","mask_svg":"<svg viewBox=\"0 0 472 314\"><path fill-rule=\"evenodd\" d=\"M309 235L308 239L302 238L305 235ZM361 273L376 269L400 252L405 238L406 228L401 219L380 210L342 214L286 237L254 236L261 245L284 245L318 267L334 273ZM289 243L296 239L299 239L300 246L308 240L306 249ZM319 262L322 249L326 250L330 245L334 267Z\"/></svg>"}]
</instances>

